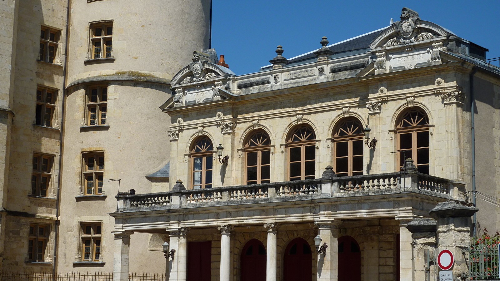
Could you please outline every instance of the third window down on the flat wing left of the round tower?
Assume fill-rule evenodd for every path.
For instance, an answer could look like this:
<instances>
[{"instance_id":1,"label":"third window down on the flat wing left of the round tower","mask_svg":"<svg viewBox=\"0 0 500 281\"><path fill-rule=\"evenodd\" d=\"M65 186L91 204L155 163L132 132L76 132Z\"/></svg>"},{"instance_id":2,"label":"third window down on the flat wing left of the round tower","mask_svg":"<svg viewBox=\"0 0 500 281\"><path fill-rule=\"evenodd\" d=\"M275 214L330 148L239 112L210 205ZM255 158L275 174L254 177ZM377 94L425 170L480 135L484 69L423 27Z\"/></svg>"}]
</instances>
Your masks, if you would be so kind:
<instances>
[{"instance_id":1,"label":"third window down on the flat wing left of the round tower","mask_svg":"<svg viewBox=\"0 0 500 281\"><path fill-rule=\"evenodd\" d=\"M47 197L53 159L53 156L33 154L31 195Z\"/></svg>"}]
</instances>

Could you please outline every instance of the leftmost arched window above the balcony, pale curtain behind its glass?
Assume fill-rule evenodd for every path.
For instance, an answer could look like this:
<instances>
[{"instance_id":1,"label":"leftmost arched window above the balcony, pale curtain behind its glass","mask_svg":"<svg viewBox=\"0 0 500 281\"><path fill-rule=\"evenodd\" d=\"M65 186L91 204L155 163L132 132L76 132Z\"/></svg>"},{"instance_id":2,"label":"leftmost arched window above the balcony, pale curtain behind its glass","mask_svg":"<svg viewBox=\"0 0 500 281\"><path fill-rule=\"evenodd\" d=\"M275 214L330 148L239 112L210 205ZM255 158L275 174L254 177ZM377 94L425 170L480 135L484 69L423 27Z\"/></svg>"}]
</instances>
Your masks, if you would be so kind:
<instances>
[{"instance_id":1,"label":"leftmost arched window above the balcony, pale curtain behind its glass","mask_svg":"<svg viewBox=\"0 0 500 281\"><path fill-rule=\"evenodd\" d=\"M193 189L212 187L212 150L213 145L208 137L201 136L194 141L191 148Z\"/></svg>"}]
</instances>

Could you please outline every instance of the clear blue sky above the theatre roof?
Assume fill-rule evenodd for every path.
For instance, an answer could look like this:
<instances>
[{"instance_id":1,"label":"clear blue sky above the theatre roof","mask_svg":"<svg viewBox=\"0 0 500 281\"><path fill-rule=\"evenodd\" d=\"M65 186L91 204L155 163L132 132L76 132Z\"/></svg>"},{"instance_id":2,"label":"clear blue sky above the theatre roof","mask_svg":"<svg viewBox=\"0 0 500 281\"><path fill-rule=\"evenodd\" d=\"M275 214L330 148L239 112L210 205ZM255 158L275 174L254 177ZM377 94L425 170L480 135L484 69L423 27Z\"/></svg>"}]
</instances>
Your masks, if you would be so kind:
<instances>
[{"instance_id":1,"label":"clear blue sky above the theatre roof","mask_svg":"<svg viewBox=\"0 0 500 281\"><path fill-rule=\"evenodd\" d=\"M471 4L472 3L472 4ZM500 0L213 0L212 44L237 75L269 64L282 45L290 58L389 25L405 6L500 56Z\"/></svg>"}]
</instances>

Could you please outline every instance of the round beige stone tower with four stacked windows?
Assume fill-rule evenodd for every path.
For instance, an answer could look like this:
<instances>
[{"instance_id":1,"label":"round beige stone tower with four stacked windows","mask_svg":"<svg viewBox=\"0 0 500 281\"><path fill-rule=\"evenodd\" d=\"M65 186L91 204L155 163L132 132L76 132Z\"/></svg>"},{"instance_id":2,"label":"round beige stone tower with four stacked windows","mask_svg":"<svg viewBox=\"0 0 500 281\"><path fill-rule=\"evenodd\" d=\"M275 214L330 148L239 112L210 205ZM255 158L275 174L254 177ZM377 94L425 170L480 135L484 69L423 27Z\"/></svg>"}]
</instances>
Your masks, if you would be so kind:
<instances>
[{"instance_id":1,"label":"round beige stone tower with four stacked windows","mask_svg":"<svg viewBox=\"0 0 500 281\"><path fill-rule=\"evenodd\" d=\"M57 270L112 271L114 196L168 190L159 107L193 50L208 48L210 0L70 2ZM129 270L163 272L163 239L131 235Z\"/></svg>"}]
</instances>

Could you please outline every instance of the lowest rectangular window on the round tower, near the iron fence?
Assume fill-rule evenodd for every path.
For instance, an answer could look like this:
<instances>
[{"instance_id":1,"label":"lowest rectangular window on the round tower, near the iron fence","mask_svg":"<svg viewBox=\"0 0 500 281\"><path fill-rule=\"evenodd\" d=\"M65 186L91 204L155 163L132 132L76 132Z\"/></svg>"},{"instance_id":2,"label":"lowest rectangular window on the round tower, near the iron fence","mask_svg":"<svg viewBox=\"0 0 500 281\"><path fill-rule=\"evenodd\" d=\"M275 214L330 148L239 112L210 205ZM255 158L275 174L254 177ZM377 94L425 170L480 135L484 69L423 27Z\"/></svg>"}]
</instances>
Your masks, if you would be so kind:
<instances>
[{"instance_id":1,"label":"lowest rectangular window on the round tower, near the iron fence","mask_svg":"<svg viewBox=\"0 0 500 281\"><path fill-rule=\"evenodd\" d=\"M80 223L81 260L99 261L101 254L101 222Z\"/></svg>"}]
</instances>

